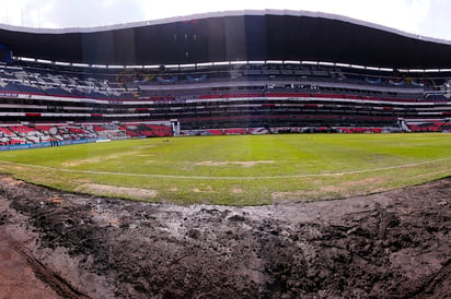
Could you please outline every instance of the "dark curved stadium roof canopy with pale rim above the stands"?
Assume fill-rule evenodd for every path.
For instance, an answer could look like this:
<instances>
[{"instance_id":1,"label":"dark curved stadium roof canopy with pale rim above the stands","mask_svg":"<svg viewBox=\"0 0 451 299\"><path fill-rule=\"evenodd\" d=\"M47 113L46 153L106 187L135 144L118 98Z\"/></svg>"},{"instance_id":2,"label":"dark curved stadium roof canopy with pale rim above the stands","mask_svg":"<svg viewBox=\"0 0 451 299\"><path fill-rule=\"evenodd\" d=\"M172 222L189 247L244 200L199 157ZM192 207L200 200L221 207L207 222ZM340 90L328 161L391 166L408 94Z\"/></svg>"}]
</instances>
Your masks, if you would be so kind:
<instances>
[{"instance_id":1,"label":"dark curved stadium roof canopy with pale rim above the stands","mask_svg":"<svg viewBox=\"0 0 451 299\"><path fill-rule=\"evenodd\" d=\"M324 61L393 69L451 68L450 41L324 13L235 11L104 27L1 25L15 57L88 64Z\"/></svg>"}]
</instances>

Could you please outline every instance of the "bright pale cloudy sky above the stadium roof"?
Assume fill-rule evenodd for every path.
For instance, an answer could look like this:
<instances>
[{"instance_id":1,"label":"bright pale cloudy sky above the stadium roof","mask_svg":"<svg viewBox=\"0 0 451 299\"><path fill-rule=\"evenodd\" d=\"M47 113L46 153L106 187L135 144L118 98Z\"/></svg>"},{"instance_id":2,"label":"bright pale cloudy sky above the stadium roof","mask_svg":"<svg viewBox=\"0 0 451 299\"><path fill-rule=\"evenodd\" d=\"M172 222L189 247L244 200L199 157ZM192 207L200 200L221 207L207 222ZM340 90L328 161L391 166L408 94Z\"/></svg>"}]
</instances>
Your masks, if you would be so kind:
<instances>
[{"instance_id":1,"label":"bright pale cloudy sky above the stadium roof","mask_svg":"<svg viewBox=\"0 0 451 299\"><path fill-rule=\"evenodd\" d=\"M90 27L231 10L301 10L349 16L451 40L451 0L0 0L0 23Z\"/></svg>"}]
</instances>

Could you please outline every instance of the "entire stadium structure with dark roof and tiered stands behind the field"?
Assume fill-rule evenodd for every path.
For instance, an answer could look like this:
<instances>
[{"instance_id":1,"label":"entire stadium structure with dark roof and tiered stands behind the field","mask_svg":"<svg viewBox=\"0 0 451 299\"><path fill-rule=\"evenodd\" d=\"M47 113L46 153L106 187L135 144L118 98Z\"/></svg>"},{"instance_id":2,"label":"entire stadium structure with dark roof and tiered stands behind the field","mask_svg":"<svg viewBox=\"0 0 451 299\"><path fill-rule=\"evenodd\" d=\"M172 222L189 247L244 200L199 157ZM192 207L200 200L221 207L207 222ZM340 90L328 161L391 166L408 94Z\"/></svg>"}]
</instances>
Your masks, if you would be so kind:
<instances>
[{"instance_id":1,"label":"entire stadium structure with dark roof and tiered stands behind the field","mask_svg":"<svg viewBox=\"0 0 451 299\"><path fill-rule=\"evenodd\" d=\"M3 145L451 130L451 45L337 15L0 27ZM180 130L182 129L182 130Z\"/></svg>"}]
</instances>

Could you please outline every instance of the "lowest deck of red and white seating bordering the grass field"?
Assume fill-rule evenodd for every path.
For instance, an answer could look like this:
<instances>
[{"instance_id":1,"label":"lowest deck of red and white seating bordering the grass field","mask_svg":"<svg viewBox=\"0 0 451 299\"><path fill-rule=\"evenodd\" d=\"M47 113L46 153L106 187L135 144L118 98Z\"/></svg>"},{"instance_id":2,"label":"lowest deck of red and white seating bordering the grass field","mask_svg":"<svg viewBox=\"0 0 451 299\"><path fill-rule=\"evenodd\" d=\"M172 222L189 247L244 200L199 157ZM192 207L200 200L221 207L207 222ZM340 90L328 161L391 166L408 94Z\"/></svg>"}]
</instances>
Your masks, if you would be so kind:
<instances>
[{"instance_id":1,"label":"lowest deck of red and white seating bordering the grass field","mask_svg":"<svg viewBox=\"0 0 451 299\"><path fill-rule=\"evenodd\" d=\"M406 128L412 132L451 132L450 122L410 121ZM406 130L407 130L406 129ZM404 131L406 131L404 130ZM182 135L231 135L266 133L382 133L401 132L397 127L280 127L280 128L222 128L203 130L183 130ZM108 133L108 134L105 134ZM114 133L120 134L114 134ZM167 124L129 122L129 123L41 123L41 124L2 124L0 145L33 144L50 141L124 139L124 137L165 137L172 136Z\"/></svg>"}]
</instances>

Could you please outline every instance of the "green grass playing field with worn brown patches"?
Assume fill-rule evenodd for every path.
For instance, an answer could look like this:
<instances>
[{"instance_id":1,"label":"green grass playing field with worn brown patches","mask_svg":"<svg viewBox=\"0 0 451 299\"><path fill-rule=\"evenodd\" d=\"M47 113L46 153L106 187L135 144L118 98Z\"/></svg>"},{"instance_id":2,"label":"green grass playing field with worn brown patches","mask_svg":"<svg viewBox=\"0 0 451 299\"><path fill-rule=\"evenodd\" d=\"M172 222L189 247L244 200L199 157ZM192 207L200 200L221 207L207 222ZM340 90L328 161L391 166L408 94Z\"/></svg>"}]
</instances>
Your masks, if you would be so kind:
<instances>
[{"instance_id":1,"label":"green grass playing field with worn brown patches","mask_svg":"<svg viewBox=\"0 0 451 299\"><path fill-rule=\"evenodd\" d=\"M451 176L451 134L128 140L2 152L0 171L67 191L149 202L339 199Z\"/></svg>"}]
</instances>

